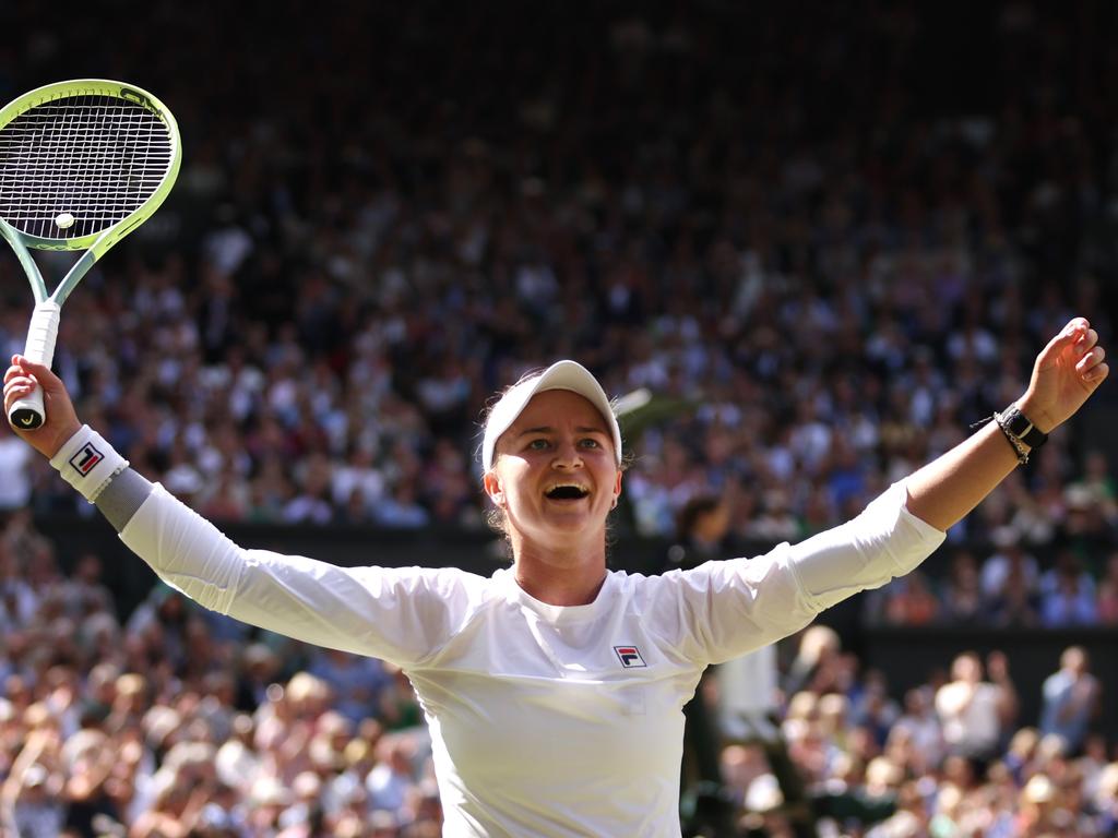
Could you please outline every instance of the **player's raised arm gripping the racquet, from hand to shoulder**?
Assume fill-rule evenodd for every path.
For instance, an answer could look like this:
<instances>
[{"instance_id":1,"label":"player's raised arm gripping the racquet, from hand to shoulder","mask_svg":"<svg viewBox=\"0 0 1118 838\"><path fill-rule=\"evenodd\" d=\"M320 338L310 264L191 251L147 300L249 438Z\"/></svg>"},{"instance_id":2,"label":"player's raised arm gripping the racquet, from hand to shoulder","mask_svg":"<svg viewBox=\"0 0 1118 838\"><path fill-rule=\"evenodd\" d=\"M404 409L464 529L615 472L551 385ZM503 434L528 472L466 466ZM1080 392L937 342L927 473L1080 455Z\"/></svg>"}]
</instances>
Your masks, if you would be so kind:
<instances>
[{"instance_id":1,"label":"player's raised arm gripping the racquet, from hand to shoulder","mask_svg":"<svg viewBox=\"0 0 1118 838\"><path fill-rule=\"evenodd\" d=\"M83 426L63 382L21 356L4 402L41 385L47 420L17 431L117 530L129 549L196 602L305 642L418 664L471 619L484 580L451 569L339 568L246 550L158 484L127 467Z\"/></svg>"}]
</instances>

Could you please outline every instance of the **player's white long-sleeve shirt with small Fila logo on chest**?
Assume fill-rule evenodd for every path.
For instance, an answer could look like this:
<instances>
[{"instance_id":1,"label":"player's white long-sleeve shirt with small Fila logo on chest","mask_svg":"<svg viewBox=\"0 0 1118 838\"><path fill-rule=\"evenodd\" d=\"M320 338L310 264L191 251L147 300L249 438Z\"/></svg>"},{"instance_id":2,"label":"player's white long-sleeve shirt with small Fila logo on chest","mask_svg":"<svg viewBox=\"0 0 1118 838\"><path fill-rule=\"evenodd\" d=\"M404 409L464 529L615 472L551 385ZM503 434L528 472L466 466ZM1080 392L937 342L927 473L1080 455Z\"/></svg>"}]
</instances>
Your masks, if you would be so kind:
<instances>
[{"instance_id":1,"label":"player's white long-sleeve shirt with small Fila logo on chest","mask_svg":"<svg viewBox=\"0 0 1118 838\"><path fill-rule=\"evenodd\" d=\"M121 539L207 608L399 665L430 727L444 835L676 838L681 710L703 668L919 564L944 534L906 497L894 485L853 521L757 559L613 571L576 607L533 599L511 569L245 550L158 485Z\"/></svg>"}]
</instances>

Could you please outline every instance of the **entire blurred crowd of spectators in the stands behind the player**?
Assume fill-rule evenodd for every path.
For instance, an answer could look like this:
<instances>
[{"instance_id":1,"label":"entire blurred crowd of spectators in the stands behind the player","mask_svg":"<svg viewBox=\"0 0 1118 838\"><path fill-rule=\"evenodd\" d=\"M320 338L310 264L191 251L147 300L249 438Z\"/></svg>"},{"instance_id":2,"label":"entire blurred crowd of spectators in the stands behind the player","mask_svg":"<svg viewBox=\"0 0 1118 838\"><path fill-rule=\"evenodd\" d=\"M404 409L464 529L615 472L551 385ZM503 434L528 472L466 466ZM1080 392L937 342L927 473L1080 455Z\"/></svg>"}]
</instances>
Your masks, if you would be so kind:
<instances>
[{"instance_id":1,"label":"entire blurred crowd of spectators in the stands behind the player","mask_svg":"<svg viewBox=\"0 0 1118 838\"><path fill-rule=\"evenodd\" d=\"M212 27L115 0L130 26L77 34L4 4L0 94L126 78L186 143L171 199L67 302L55 366L85 421L219 523L482 528L486 399L576 358L641 406L619 528L666 536L717 494L742 542L818 532L1018 396L1070 316L1114 335L1116 12L976 6L420 0L307 27L278 0ZM25 285L0 258L9 354ZM948 571L866 597L870 619L1118 622L1108 445L1053 435L953 530ZM162 589L117 613L96 556L61 577L26 516L84 505L7 430L0 470L20 835L436 834L399 673ZM951 759L934 685L881 689L784 705L813 782L897 794L875 835L1114 835L1087 806L1115 784L1106 743L1006 718L983 774ZM724 752L743 796L758 753ZM1053 820L1080 810L1095 832Z\"/></svg>"}]
</instances>

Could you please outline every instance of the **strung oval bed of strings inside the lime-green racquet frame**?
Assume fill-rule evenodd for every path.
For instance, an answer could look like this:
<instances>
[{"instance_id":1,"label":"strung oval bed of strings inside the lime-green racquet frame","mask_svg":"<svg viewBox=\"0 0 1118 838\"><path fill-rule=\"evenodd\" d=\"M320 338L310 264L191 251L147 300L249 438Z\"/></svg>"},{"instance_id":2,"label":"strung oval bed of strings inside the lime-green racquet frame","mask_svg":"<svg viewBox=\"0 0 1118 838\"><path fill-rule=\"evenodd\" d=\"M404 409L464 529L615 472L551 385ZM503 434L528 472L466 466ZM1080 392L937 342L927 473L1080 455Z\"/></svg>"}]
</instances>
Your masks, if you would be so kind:
<instances>
[{"instance_id":1,"label":"strung oval bed of strings inside the lime-green racquet frame","mask_svg":"<svg viewBox=\"0 0 1118 838\"><path fill-rule=\"evenodd\" d=\"M28 236L96 235L140 209L174 155L168 125L116 96L65 96L0 128L0 218ZM56 219L69 213L74 222Z\"/></svg>"}]
</instances>

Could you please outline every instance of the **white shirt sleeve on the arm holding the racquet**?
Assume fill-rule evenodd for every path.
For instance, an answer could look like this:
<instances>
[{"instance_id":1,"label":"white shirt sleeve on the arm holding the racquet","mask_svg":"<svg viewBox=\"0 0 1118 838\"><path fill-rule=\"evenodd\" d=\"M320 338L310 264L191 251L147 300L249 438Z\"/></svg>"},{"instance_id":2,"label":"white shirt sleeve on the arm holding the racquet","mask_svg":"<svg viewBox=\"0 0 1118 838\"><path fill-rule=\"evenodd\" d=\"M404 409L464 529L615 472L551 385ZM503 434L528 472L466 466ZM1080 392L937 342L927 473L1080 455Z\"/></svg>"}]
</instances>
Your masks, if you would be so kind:
<instances>
[{"instance_id":1,"label":"white shirt sleeve on the arm holding the racquet","mask_svg":"<svg viewBox=\"0 0 1118 838\"><path fill-rule=\"evenodd\" d=\"M485 581L456 569L339 568L245 550L159 484L120 536L210 610L401 667L436 654L468 621Z\"/></svg>"}]
</instances>

